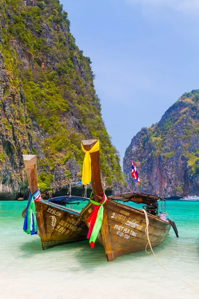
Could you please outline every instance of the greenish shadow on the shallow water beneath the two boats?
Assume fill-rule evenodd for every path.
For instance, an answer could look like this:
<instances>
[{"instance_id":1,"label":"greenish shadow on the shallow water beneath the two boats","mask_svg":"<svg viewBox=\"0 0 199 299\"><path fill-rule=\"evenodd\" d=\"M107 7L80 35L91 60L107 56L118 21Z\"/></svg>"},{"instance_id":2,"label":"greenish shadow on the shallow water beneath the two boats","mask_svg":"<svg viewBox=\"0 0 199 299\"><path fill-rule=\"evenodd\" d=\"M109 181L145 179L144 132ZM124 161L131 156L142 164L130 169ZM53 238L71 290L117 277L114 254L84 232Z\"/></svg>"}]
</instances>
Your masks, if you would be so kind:
<instances>
[{"instance_id":1,"label":"greenish shadow on the shallow water beneath the two boats","mask_svg":"<svg viewBox=\"0 0 199 299\"><path fill-rule=\"evenodd\" d=\"M163 253L168 249L168 246L171 246L173 238L168 236L167 239L155 248L157 254ZM47 261L50 261L51 265L55 266L56 263L60 264L61 261L62 265L59 270L69 272L83 271L91 273L95 272L96 269L104 271L105 268L114 267L114 265L119 265L124 269L129 262L148 258L145 251L141 251L121 256L114 260L114 263L107 263L104 248L96 242L95 248L91 249L88 240L55 246L43 251L40 240L37 239L19 245L19 250L23 259L29 259L31 255L40 262L42 261L41 263L44 263L44 265L47 264Z\"/></svg>"}]
</instances>

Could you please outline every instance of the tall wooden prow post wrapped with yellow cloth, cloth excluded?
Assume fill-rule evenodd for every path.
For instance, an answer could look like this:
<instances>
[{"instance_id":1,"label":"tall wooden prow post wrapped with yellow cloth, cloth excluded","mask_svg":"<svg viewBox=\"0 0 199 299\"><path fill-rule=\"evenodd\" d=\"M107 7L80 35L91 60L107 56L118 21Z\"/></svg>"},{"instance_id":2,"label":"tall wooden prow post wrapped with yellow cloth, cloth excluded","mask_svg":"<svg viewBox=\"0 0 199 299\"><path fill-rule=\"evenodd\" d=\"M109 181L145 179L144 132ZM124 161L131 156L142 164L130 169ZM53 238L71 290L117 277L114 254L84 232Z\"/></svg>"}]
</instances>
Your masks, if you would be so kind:
<instances>
[{"instance_id":1,"label":"tall wooden prow post wrapped with yellow cloth, cloth excluded","mask_svg":"<svg viewBox=\"0 0 199 299\"><path fill-rule=\"evenodd\" d=\"M90 150L98 142L96 139L82 140L82 144L85 150ZM96 201L100 201L97 195L103 195L103 188L101 185L100 177L100 151L91 152L91 183Z\"/></svg>"}]
</instances>

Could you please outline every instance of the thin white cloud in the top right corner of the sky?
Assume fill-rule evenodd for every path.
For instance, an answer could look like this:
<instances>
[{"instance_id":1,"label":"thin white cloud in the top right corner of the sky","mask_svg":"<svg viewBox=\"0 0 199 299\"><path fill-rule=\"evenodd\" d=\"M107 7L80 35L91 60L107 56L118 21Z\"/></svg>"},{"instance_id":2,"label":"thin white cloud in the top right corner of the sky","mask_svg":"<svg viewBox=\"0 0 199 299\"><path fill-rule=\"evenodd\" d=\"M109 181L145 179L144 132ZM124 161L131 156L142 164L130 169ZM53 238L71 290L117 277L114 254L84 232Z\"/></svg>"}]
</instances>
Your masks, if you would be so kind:
<instances>
[{"instance_id":1,"label":"thin white cloud in the top right corner of the sky","mask_svg":"<svg viewBox=\"0 0 199 299\"><path fill-rule=\"evenodd\" d=\"M127 0L128 4L140 4L142 8L171 8L185 14L199 13L199 0Z\"/></svg>"}]
</instances>

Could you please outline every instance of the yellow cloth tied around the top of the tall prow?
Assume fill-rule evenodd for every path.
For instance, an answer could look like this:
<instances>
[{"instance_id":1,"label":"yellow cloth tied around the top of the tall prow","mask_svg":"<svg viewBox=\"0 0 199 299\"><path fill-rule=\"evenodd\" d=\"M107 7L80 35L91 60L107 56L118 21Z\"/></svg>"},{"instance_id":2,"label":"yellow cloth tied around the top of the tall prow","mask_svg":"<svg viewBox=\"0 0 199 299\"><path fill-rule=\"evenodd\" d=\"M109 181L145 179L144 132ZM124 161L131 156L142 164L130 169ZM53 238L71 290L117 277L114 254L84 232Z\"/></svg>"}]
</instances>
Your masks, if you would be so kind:
<instances>
[{"instance_id":1,"label":"yellow cloth tied around the top of the tall prow","mask_svg":"<svg viewBox=\"0 0 199 299\"><path fill-rule=\"evenodd\" d=\"M90 152L95 152L100 150L100 141L93 146L92 149L86 150L82 144L82 150L85 152L83 170L82 170L82 183L83 185L90 184L91 181L91 155Z\"/></svg>"}]
</instances>

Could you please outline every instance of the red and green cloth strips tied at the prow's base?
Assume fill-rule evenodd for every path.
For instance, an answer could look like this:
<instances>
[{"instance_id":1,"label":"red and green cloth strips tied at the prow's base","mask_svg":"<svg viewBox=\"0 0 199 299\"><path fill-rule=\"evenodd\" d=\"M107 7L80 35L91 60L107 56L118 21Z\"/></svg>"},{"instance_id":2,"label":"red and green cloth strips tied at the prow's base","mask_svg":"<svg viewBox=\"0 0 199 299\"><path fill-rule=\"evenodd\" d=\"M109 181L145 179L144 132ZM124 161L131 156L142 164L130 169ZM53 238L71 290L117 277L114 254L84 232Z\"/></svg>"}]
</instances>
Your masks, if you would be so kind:
<instances>
[{"instance_id":1,"label":"red and green cloth strips tied at the prow's base","mask_svg":"<svg viewBox=\"0 0 199 299\"><path fill-rule=\"evenodd\" d=\"M94 205L94 209L88 219L89 232L87 235L87 239L89 239L91 248L94 248L103 220L103 205L108 201L108 199L107 196L103 193L103 199L100 202L96 202L91 199L92 195L93 191L90 196L90 201Z\"/></svg>"}]
</instances>

